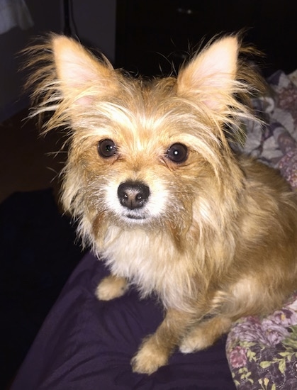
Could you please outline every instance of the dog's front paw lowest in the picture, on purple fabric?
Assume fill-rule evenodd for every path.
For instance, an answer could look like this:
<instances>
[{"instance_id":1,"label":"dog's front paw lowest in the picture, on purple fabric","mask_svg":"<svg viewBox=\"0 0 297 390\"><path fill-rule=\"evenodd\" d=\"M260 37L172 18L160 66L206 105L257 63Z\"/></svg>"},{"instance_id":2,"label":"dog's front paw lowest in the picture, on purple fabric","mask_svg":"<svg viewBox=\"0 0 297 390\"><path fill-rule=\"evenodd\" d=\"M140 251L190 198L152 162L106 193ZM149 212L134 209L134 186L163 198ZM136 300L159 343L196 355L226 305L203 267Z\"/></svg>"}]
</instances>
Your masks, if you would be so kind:
<instances>
[{"instance_id":1,"label":"dog's front paw lowest in the picture, on purple fabric","mask_svg":"<svg viewBox=\"0 0 297 390\"><path fill-rule=\"evenodd\" d=\"M152 374L168 362L168 353L156 345L153 336L148 338L131 360L133 372Z\"/></svg>"}]
</instances>

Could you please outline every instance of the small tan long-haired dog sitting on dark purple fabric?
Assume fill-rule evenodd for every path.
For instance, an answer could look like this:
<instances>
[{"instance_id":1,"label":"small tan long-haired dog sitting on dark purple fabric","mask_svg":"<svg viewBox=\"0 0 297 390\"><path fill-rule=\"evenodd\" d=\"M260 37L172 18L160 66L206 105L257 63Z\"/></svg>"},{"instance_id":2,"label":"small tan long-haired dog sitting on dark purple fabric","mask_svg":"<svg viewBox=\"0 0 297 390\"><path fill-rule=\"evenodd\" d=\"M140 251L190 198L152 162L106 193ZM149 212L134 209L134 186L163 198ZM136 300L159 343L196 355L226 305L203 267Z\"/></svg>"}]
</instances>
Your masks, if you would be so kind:
<instances>
[{"instance_id":1,"label":"small tan long-haired dog sitting on dark purple fabric","mask_svg":"<svg viewBox=\"0 0 297 390\"><path fill-rule=\"evenodd\" d=\"M113 69L76 40L50 35L29 50L29 80L68 126L62 204L111 276L96 296L130 284L154 292L164 321L133 370L152 374L175 347L206 348L241 316L279 308L297 286L297 201L279 173L236 157L225 128L252 114L240 39L213 40L177 77L150 81Z\"/></svg>"}]
</instances>

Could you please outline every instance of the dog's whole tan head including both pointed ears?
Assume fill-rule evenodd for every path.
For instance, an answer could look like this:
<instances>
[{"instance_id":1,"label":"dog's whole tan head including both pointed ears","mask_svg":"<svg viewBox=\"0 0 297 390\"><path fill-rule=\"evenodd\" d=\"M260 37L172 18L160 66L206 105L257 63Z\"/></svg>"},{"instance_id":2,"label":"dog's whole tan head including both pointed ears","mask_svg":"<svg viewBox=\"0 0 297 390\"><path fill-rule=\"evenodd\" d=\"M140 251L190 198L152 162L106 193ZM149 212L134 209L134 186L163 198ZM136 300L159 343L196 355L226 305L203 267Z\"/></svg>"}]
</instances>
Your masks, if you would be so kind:
<instances>
[{"instance_id":1,"label":"dog's whole tan head including both pointed ears","mask_svg":"<svg viewBox=\"0 0 297 390\"><path fill-rule=\"evenodd\" d=\"M232 165L222 127L238 108L237 38L213 43L177 78L151 82L124 76L69 38L53 38L52 52L52 121L72 129L63 203L84 230L167 228L179 241L194 214L211 218L207 198Z\"/></svg>"}]
</instances>

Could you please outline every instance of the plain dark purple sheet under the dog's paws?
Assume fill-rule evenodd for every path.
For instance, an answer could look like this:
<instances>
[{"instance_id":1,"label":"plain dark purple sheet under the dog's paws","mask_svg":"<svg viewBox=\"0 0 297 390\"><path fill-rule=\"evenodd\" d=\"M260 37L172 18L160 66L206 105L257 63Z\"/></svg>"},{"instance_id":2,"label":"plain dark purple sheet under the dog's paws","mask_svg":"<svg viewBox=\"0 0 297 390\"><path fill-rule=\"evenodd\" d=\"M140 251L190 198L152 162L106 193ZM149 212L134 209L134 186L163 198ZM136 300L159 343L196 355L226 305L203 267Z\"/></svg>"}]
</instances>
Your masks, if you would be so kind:
<instances>
[{"instance_id":1,"label":"plain dark purple sheet under the dog's paws","mask_svg":"<svg viewBox=\"0 0 297 390\"><path fill-rule=\"evenodd\" d=\"M235 389L225 356L225 338L208 350L175 352L154 374L135 374L130 359L142 338L162 321L154 297L137 291L98 301L94 290L107 274L103 262L86 255L53 306L11 390Z\"/></svg>"}]
</instances>

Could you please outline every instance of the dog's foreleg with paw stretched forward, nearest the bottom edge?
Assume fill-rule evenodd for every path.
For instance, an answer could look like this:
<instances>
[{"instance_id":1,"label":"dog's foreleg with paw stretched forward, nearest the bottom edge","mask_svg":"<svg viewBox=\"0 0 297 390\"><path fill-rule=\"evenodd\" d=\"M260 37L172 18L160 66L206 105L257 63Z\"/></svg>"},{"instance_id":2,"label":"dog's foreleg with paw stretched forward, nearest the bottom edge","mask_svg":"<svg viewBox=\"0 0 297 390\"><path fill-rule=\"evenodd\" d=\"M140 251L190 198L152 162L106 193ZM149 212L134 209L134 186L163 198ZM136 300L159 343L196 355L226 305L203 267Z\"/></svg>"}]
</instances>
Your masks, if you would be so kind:
<instances>
[{"instance_id":1,"label":"dog's foreleg with paw stretched forward, nearest the bottom edge","mask_svg":"<svg viewBox=\"0 0 297 390\"><path fill-rule=\"evenodd\" d=\"M179 345L192 316L174 309L167 311L164 321L153 335L143 340L140 349L131 361L133 372L152 374L167 364L174 347Z\"/></svg>"}]
</instances>

